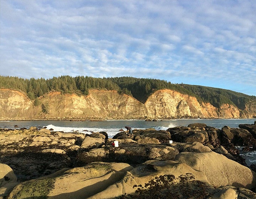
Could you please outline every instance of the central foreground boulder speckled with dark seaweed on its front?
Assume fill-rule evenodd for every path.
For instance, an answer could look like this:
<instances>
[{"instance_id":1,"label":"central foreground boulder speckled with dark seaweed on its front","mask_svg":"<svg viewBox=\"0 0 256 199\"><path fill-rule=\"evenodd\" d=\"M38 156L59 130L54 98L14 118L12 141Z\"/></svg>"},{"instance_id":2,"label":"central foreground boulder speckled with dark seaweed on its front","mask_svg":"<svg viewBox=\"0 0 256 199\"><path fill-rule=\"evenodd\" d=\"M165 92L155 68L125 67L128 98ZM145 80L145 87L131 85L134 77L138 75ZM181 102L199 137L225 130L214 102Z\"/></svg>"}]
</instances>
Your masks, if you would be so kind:
<instances>
[{"instance_id":1,"label":"central foreground boulder speckled with dark seaweed on its front","mask_svg":"<svg viewBox=\"0 0 256 199\"><path fill-rule=\"evenodd\" d=\"M197 189L194 189L196 186ZM180 188L180 189L179 189ZM182 189L183 188L183 189ZM184 189L185 188L185 189ZM147 161L128 171L123 179L88 199L121 198L187 198L206 196L210 184L206 176L184 163Z\"/></svg>"}]
</instances>

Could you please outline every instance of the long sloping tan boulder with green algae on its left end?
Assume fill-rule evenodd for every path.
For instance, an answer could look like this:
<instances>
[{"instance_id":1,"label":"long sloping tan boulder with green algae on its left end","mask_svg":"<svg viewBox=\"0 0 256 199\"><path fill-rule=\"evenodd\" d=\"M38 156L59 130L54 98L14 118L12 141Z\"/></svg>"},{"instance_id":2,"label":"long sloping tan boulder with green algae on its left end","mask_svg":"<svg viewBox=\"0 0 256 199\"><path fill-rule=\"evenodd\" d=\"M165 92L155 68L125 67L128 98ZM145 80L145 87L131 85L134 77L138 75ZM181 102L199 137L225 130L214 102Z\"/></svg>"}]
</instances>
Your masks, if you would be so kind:
<instances>
[{"instance_id":1,"label":"long sloping tan boulder with green algae on its left end","mask_svg":"<svg viewBox=\"0 0 256 199\"><path fill-rule=\"evenodd\" d=\"M63 169L52 175L17 185L7 199L84 199L120 181L133 167L126 163L91 163Z\"/></svg>"}]
</instances>

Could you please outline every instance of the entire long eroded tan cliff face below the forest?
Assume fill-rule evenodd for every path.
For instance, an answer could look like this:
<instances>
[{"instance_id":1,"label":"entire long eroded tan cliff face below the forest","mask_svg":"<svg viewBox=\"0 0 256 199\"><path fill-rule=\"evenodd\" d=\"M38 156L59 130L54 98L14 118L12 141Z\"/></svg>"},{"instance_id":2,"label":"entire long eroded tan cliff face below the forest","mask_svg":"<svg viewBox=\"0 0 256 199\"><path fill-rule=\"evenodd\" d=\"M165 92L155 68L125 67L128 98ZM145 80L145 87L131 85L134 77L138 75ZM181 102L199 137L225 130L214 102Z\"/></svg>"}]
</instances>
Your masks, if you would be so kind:
<instances>
[{"instance_id":1,"label":"entire long eroded tan cliff face below the forest","mask_svg":"<svg viewBox=\"0 0 256 199\"><path fill-rule=\"evenodd\" d=\"M199 103L195 97L172 90L154 92L145 104L117 91L90 90L88 96L50 92L34 106L21 92L0 89L0 119L171 119L171 118L253 118L256 105L240 110L230 104L216 108ZM43 112L42 107L48 113Z\"/></svg>"}]
</instances>

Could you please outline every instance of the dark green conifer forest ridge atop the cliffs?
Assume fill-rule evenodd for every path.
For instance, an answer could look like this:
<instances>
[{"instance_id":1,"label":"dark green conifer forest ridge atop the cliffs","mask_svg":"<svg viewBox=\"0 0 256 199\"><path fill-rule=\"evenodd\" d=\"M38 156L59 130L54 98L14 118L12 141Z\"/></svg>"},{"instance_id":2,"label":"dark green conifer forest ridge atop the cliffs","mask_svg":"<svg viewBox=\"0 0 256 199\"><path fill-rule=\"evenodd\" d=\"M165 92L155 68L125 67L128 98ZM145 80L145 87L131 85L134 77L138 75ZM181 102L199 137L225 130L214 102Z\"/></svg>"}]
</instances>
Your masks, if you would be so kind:
<instances>
[{"instance_id":1,"label":"dark green conifer forest ridge atop the cliffs","mask_svg":"<svg viewBox=\"0 0 256 199\"><path fill-rule=\"evenodd\" d=\"M31 100L44 95L49 91L62 93L76 93L88 95L90 89L117 90L120 94L127 94L140 102L156 90L170 89L197 98L199 102L209 102L215 107L224 103L234 104L240 109L245 108L245 103L256 102L256 96L249 96L221 88L213 88L188 84L172 84L165 80L146 79L135 77L89 77L68 75L53 77L51 79L23 79L20 77L0 76L0 88L18 90L25 93Z\"/></svg>"}]
</instances>

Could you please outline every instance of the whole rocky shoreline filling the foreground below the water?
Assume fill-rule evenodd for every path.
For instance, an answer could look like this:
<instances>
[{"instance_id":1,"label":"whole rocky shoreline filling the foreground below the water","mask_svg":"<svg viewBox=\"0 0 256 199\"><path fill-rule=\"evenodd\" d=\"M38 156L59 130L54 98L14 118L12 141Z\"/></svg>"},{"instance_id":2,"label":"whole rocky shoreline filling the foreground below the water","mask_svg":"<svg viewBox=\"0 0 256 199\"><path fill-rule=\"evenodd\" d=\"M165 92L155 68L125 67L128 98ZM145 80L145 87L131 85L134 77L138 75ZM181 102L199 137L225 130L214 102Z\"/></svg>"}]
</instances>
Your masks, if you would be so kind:
<instances>
[{"instance_id":1,"label":"whole rocky shoreline filling the foreground below the water","mask_svg":"<svg viewBox=\"0 0 256 199\"><path fill-rule=\"evenodd\" d=\"M0 129L0 199L256 198L256 124L133 133Z\"/></svg>"}]
</instances>

